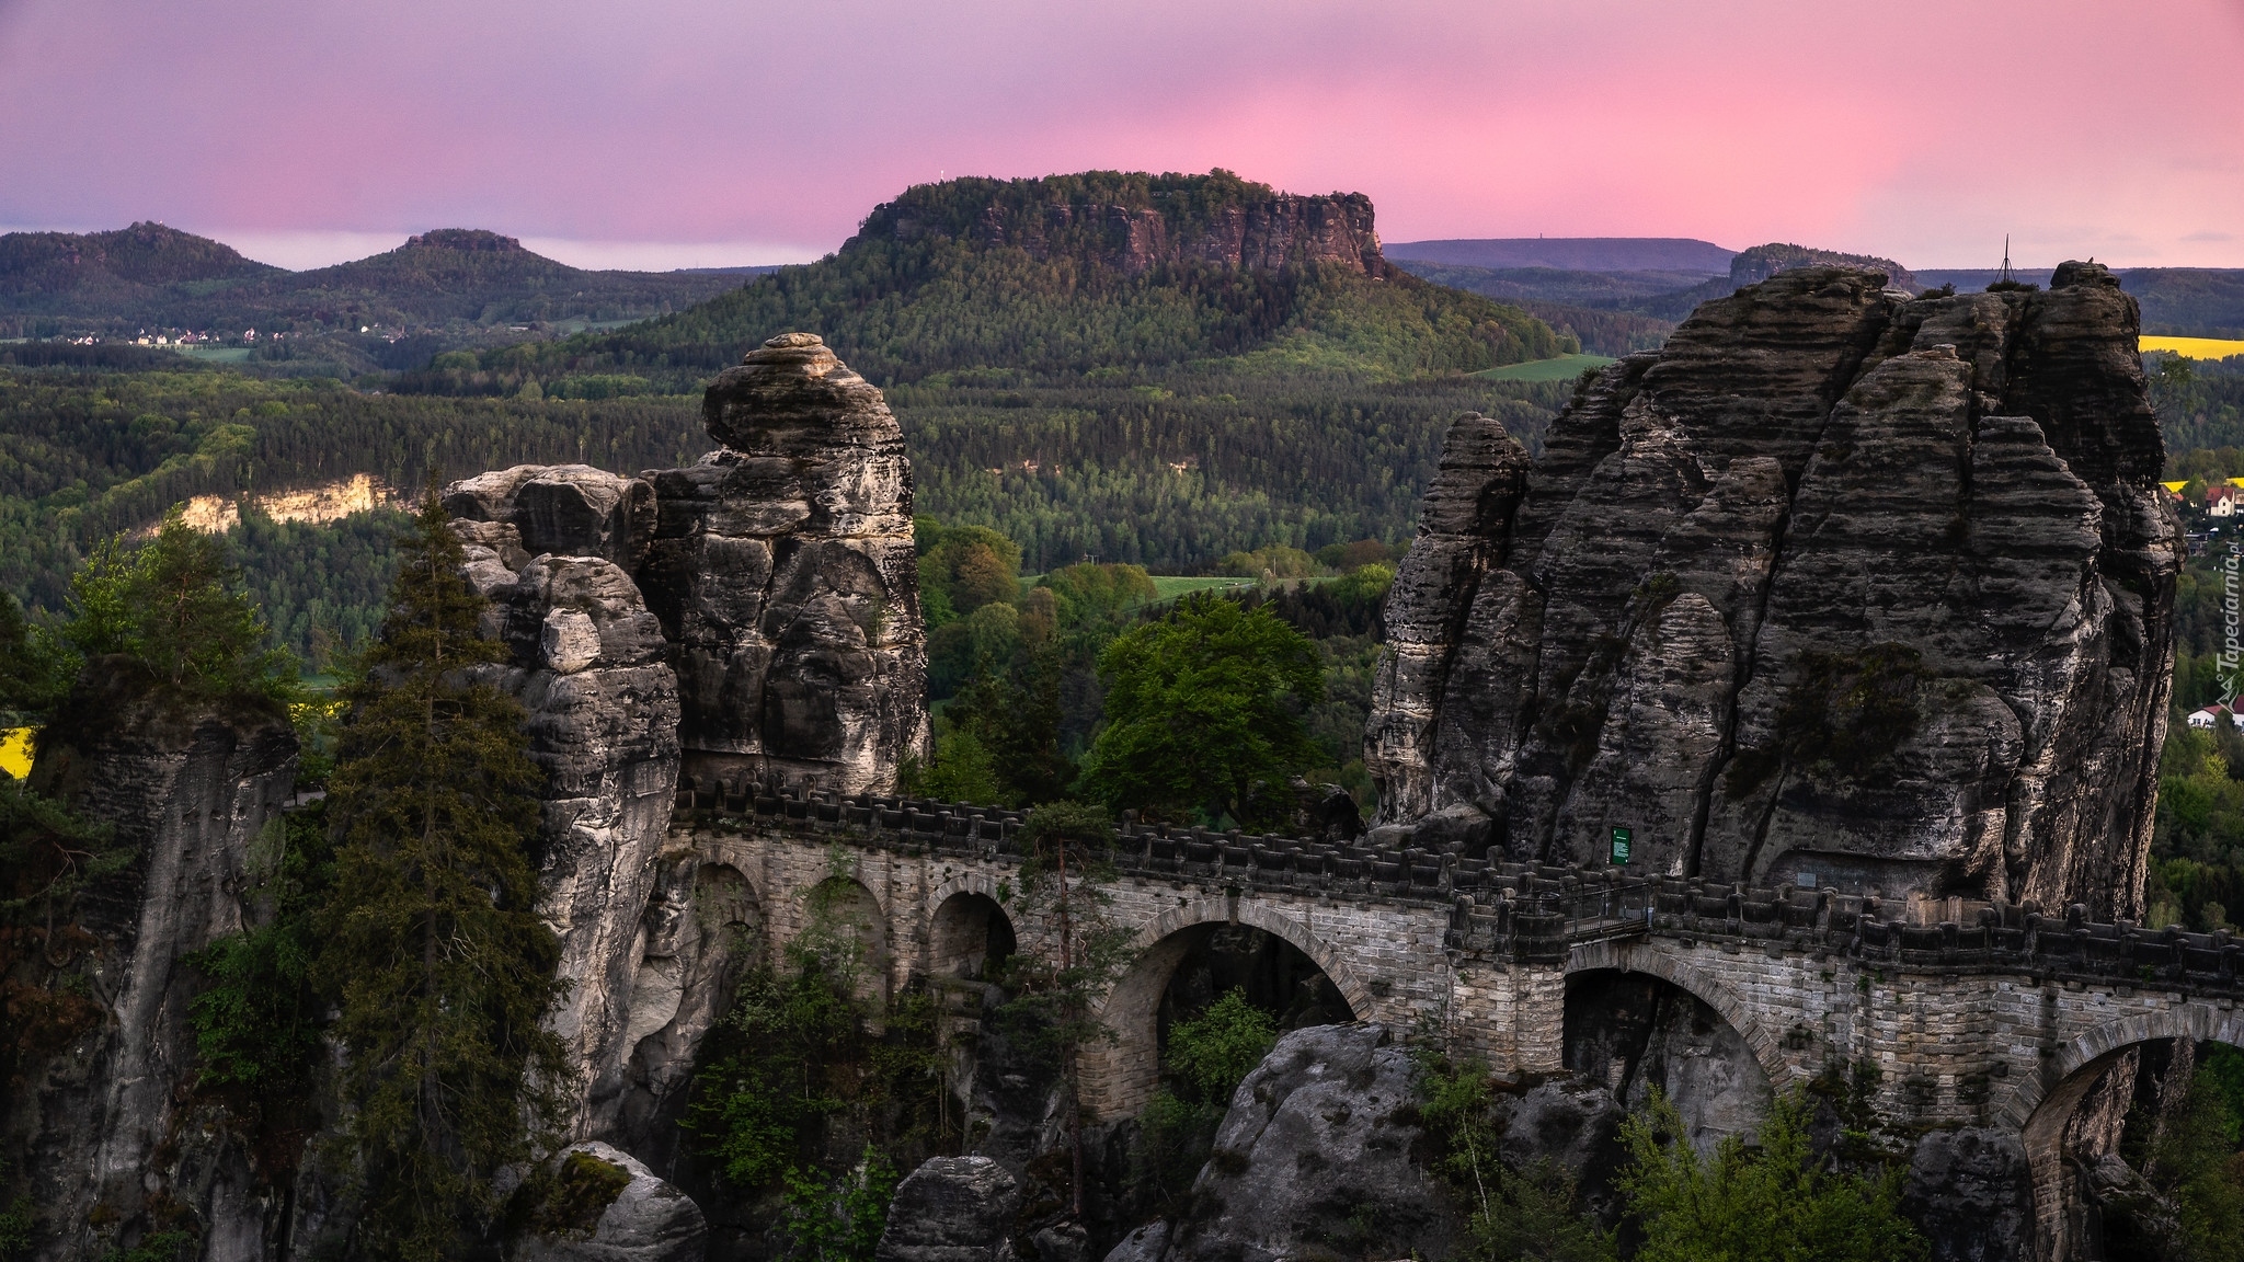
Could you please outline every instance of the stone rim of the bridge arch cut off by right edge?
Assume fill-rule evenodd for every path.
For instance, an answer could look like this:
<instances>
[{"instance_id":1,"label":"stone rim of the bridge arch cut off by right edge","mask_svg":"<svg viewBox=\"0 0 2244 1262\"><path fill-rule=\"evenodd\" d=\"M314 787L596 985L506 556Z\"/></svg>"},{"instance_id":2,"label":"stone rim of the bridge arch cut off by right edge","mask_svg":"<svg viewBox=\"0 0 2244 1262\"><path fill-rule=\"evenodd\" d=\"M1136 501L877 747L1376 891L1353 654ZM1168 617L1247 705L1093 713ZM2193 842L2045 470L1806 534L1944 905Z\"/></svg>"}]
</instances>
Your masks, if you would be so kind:
<instances>
[{"instance_id":1,"label":"stone rim of the bridge arch cut off by right edge","mask_svg":"<svg viewBox=\"0 0 2244 1262\"><path fill-rule=\"evenodd\" d=\"M2062 1262L2082 1244L2071 1240L2073 1222L2067 1213L2064 1127L2073 1109L2121 1055L2165 1040L2226 1042L2244 1049L2244 1013L2224 1013L2213 1004L2177 1004L2098 1024L2044 1058L2047 1069L2038 1078L2029 1076L2004 1107L2004 1116L2020 1130L2033 1174L2035 1258Z\"/></svg>"}]
</instances>

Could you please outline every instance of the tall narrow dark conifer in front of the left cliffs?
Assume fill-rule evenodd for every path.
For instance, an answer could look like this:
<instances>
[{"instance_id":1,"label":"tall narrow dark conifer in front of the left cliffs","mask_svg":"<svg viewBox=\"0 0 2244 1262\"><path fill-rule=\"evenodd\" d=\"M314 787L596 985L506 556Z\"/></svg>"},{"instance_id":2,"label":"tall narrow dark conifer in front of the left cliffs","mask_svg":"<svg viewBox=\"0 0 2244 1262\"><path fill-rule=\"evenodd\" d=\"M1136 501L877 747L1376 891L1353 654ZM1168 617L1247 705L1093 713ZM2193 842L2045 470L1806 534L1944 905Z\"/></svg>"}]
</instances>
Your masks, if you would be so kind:
<instances>
[{"instance_id":1,"label":"tall narrow dark conifer in front of the left cliffs","mask_svg":"<svg viewBox=\"0 0 2244 1262\"><path fill-rule=\"evenodd\" d=\"M521 705L473 678L505 649L476 631L482 600L433 492L399 550L390 615L343 692L321 972L366 1181L355 1251L435 1260L494 1222L503 1168L545 1154L568 1067L539 1024L561 993L530 865L541 775Z\"/></svg>"}]
</instances>

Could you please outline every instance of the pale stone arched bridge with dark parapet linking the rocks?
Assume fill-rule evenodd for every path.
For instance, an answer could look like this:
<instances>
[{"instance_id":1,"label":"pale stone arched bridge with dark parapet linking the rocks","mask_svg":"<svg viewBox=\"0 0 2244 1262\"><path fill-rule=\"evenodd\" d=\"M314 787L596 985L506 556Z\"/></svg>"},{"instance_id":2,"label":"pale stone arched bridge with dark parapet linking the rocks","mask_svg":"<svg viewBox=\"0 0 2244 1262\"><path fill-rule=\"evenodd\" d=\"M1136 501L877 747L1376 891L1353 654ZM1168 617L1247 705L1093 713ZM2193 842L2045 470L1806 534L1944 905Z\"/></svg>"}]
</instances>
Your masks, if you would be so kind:
<instances>
[{"instance_id":1,"label":"pale stone arched bridge with dark parapet linking the rocks","mask_svg":"<svg viewBox=\"0 0 2244 1262\"><path fill-rule=\"evenodd\" d=\"M880 977L978 968L1021 865L1014 811L830 795L684 790L671 856L736 869L767 941L824 880L853 885ZM1499 1073L1562 1073L1566 979L1640 972L1712 1006L1775 1089L1874 1064L1898 1123L2020 1134L2042 1258L2067 1258L2064 1121L2112 1060L2170 1037L2244 1046L2244 941L2085 923L2078 907L1732 889L1622 869L1124 824L1109 914L1135 963L1104 1002L1086 1105L1135 1112L1156 1085L1156 1008L1205 925L1299 948L1358 1019ZM1010 925L1034 941L1032 923Z\"/></svg>"}]
</instances>

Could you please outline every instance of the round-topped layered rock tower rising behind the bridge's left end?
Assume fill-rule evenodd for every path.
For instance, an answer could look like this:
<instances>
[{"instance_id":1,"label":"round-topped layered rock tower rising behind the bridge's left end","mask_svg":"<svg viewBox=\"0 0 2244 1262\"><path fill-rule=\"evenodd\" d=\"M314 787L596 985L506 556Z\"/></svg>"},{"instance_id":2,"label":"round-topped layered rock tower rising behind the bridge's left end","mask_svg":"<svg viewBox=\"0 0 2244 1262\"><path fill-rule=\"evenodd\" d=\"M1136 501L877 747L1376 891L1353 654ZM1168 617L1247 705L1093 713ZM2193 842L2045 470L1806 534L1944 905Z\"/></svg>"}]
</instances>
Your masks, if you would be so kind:
<instances>
[{"instance_id":1,"label":"round-topped layered rock tower rising behind the bridge's left end","mask_svg":"<svg viewBox=\"0 0 2244 1262\"><path fill-rule=\"evenodd\" d=\"M671 640L684 772L889 793L927 746L911 463L880 391L788 332L709 384L723 442L651 472L640 586Z\"/></svg>"}]
</instances>

